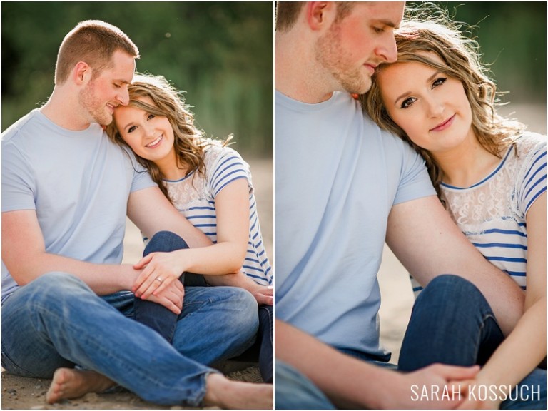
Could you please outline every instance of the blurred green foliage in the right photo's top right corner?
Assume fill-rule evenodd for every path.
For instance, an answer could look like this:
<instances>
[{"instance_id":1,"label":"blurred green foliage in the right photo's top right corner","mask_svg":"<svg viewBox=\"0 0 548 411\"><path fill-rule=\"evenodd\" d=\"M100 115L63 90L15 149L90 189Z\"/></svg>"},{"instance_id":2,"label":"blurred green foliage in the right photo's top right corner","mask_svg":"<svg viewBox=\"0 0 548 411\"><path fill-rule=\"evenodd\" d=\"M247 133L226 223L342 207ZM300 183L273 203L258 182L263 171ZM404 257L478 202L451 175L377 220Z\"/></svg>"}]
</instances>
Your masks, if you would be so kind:
<instances>
[{"instance_id":1,"label":"blurred green foliage in the right photo's top right corner","mask_svg":"<svg viewBox=\"0 0 548 411\"><path fill-rule=\"evenodd\" d=\"M471 25L504 101L546 104L546 1L434 1ZM407 6L420 6L408 2Z\"/></svg>"}]
</instances>

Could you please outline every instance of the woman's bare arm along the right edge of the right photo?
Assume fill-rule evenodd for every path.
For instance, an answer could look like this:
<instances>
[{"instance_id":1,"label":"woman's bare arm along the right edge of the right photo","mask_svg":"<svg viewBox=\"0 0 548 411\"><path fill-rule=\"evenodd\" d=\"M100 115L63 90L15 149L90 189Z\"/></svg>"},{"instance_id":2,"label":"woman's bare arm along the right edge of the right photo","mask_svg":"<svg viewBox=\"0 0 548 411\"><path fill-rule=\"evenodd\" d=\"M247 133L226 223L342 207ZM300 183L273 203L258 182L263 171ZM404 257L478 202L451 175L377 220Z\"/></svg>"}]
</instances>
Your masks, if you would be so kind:
<instances>
[{"instance_id":1,"label":"woman's bare arm along the right edge of the right photo","mask_svg":"<svg viewBox=\"0 0 548 411\"><path fill-rule=\"evenodd\" d=\"M477 386L514 387L546 357L546 193L529 208L526 220L525 313L472 382ZM498 408L500 402L467 402L462 407Z\"/></svg>"}]
</instances>

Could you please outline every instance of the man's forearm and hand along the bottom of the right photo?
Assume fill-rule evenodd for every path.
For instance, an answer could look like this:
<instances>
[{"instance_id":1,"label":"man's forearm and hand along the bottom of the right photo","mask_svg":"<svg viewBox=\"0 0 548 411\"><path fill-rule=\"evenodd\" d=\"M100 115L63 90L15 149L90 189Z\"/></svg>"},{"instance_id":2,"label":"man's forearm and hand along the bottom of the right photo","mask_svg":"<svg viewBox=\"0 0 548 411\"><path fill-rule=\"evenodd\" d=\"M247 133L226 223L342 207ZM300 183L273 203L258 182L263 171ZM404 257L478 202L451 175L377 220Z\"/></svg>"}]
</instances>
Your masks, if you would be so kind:
<instances>
[{"instance_id":1,"label":"man's forearm and hand along the bottom of the right photo","mask_svg":"<svg viewBox=\"0 0 548 411\"><path fill-rule=\"evenodd\" d=\"M450 380L465 380L479 370L438 364L402 374L344 355L283 321L276 320L275 330L276 358L300 370L340 408L452 408L460 402L458 395L421 402L413 387L415 393L422 387L442 392Z\"/></svg>"}]
</instances>

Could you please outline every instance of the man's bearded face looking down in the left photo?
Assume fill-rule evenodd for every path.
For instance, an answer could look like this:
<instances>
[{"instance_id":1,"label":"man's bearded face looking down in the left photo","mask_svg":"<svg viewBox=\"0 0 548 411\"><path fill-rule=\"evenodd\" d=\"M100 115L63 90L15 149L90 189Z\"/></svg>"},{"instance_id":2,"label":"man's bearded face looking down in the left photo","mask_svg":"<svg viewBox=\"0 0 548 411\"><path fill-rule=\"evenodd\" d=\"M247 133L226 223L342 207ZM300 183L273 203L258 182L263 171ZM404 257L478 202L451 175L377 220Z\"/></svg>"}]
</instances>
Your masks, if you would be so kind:
<instances>
[{"instance_id":1,"label":"man's bearded face looking down in the left photo","mask_svg":"<svg viewBox=\"0 0 548 411\"><path fill-rule=\"evenodd\" d=\"M128 85L133 79L135 59L123 51L115 51L113 66L106 68L86 84L79 102L88 121L107 126L112 122L114 108L129 101Z\"/></svg>"}]
</instances>

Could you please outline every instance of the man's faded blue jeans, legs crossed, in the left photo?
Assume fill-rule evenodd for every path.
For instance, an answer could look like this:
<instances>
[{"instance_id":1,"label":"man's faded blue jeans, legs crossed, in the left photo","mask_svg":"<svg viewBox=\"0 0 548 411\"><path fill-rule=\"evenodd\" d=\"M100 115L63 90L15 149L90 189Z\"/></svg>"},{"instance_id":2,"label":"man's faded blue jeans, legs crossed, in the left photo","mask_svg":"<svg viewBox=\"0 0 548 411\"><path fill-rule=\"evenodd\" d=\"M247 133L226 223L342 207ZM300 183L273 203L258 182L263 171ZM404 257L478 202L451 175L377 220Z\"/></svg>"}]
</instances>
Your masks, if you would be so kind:
<instances>
[{"instance_id":1,"label":"man's faded blue jeans, legs crossed, in the left photo","mask_svg":"<svg viewBox=\"0 0 548 411\"><path fill-rule=\"evenodd\" d=\"M232 287L191 287L173 345L133 320L133 294L98 297L67 273L46 273L2 305L2 366L51 378L59 367L95 370L144 400L198 406L206 366L240 355L255 341L257 302Z\"/></svg>"}]
</instances>

